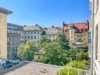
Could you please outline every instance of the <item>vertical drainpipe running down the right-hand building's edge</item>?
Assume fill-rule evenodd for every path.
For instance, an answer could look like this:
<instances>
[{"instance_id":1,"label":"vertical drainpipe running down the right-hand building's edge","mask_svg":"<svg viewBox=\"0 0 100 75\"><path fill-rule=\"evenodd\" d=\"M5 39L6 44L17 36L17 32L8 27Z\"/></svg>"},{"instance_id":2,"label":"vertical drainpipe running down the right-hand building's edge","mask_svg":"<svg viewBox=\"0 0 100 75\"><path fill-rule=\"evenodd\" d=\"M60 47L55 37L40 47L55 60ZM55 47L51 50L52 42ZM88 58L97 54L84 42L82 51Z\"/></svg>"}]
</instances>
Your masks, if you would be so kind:
<instances>
[{"instance_id":1,"label":"vertical drainpipe running down the right-hand building's edge","mask_svg":"<svg viewBox=\"0 0 100 75\"><path fill-rule=\"evenodd\" d=\"M91 33L91 75L94 75L94 0L92 3L93 7L92 7L92 33Z\"/></svg>"}]
</instances>

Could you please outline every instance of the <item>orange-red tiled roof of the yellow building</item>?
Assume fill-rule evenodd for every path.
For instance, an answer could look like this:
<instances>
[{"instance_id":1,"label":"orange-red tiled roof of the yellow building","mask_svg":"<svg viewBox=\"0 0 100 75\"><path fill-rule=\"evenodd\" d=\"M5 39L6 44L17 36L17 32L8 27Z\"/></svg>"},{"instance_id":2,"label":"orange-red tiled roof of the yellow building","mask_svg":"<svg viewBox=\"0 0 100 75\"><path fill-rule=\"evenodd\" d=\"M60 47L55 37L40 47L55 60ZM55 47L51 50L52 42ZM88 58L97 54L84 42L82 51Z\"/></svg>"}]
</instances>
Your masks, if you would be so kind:
<instances>
[{"instance_id":1,"label":"orange-red tiled roof of the yellow building","mask_svg":"<svg viewBox=\"0 0 100 75\"><path fill-rule=\"evenodd\" d=\"M88 30L88 27L89 27L87 22L84 22L84 23L73 23L73 24L74 24L75 29L77 29L77 30L80 30L80 29L87 29ZM66 24L64 26L64 30L69 30L70 26L71 26L71 24Z\"/></svg>"}]
</instances>

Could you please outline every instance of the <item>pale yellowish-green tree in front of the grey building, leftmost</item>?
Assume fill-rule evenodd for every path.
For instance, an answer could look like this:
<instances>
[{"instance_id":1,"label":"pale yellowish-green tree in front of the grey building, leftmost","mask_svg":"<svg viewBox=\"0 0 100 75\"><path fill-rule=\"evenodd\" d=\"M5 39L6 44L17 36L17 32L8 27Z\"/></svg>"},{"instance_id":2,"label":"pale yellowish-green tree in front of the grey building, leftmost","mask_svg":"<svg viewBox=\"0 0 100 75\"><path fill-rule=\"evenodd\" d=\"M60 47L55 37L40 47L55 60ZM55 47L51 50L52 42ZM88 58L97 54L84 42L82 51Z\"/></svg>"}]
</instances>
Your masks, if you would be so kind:
<instances>
[{"instance_id":1,"label":"pale yellowish-green tree in front of the grey building, leftmost","mask_svg":"<svg viewBox=\"0 0 100 75\"><path fill-rule=\"evenodd\" d=\"M23 60L32 61L34 59L34 51L36 50L35 40L29 40L25 45L20 45L18 48L18 56Z\"/></svg>"}]
</instances>

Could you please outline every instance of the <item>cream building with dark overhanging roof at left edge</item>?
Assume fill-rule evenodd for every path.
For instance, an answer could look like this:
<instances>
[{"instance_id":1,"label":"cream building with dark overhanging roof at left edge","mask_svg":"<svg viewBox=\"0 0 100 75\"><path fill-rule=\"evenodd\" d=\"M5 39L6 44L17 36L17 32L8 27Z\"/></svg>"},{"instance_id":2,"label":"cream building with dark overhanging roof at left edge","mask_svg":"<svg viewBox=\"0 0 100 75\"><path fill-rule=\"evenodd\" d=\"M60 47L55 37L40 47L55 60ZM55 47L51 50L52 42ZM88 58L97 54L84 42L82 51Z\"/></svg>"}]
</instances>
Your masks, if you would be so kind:
<instances>
[{"instance_id":1,"label":"cream building with dark overhanging roof at left edge","mask_svg":"<svg viewBox=\"0 0 100 75\"><path fill-rule=\"evenodd\" d=\"M7 15L12 14L0 7L0 58L7 59Z\"/></svg>"}]
</instances>

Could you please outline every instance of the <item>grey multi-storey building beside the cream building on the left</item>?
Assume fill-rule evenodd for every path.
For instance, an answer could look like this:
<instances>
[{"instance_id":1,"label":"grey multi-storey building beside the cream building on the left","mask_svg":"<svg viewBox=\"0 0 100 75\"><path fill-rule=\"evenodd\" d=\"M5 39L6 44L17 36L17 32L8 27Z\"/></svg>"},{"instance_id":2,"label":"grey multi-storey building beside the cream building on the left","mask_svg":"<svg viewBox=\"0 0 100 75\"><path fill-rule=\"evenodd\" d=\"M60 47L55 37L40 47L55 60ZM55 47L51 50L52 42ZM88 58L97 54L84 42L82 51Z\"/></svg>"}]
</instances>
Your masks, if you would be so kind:
<instances>
[{"instance_id":1,"label":"grey multi-storey building beside the cream building on the left","mask_svg":"<svg viewBox=\"0 0 100 75\"><path fill-rule=\"evenodd\" d=\"M14 58L20 45L20 36L23 26L7 23L7 57Z\"/></svg>"}]
</instances>

